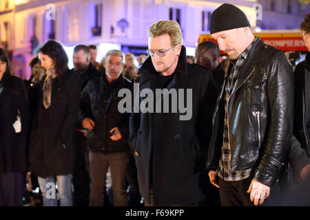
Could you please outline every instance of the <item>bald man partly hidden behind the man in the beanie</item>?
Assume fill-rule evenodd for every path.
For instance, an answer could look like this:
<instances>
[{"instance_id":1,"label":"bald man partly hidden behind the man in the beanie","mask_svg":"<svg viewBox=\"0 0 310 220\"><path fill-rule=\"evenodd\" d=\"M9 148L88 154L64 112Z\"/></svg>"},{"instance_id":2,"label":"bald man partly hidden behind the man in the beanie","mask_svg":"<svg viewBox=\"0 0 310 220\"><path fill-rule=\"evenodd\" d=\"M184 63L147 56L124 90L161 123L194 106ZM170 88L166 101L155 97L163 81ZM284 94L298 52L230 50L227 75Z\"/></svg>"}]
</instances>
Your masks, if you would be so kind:
<instances>
[{"instance_id":1,"label":"bald man partly hidden behind the man in the beanie","mask_svg":"<svg viewBox=\"0 0 310 220\"><path fill-rule=\"evenodd\" d=\"M220 49L218 45L212 41L200 43L196 48L195 57L196 64L202 65L212 72L216 88L220 91L225 72L222 65L220 65Z\"/></svg>"}]
</instances>

